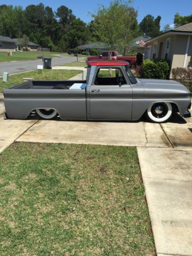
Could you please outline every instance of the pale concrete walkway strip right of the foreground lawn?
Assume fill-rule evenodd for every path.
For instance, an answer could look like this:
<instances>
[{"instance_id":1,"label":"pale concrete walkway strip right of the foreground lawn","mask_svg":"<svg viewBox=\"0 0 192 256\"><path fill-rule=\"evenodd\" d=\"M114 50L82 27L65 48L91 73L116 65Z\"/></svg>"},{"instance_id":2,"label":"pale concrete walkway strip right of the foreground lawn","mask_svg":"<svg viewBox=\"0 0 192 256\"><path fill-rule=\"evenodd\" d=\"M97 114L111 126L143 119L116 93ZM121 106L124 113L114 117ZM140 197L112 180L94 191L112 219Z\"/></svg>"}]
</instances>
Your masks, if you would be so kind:
<instances>
[{"instance_id":1,"label":"pale concrete walkway strip right of the foreground lawn","mask_svg":"<svg viewBox=\"0 0 192 256\"><path fill-rule=\"evenodd\" d=\"M156 252L192 255L192 148L140 148Z\"/></svg>"}]
</instances>

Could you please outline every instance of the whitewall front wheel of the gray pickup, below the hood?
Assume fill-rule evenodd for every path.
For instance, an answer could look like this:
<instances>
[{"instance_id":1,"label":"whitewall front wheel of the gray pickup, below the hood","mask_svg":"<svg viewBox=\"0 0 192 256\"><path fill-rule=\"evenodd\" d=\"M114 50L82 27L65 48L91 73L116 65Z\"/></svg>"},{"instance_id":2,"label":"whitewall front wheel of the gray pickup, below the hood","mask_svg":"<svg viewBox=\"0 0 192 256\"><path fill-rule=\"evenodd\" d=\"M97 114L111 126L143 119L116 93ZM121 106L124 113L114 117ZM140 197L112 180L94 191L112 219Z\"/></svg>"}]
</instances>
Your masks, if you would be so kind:
<instances>
[{"instance_id":1,"label":"whitewall front wheel of the gray pickup, below the hood","mask_svg":"<svg viewBox=\"0 0 192 256\"><path fill-rule=\"evenodd\" d=\"M146 111L147 118L155 123L168 121L173 113L172 105L169 102L158 102L151 104Z\"/></svg>"}]
</instances>

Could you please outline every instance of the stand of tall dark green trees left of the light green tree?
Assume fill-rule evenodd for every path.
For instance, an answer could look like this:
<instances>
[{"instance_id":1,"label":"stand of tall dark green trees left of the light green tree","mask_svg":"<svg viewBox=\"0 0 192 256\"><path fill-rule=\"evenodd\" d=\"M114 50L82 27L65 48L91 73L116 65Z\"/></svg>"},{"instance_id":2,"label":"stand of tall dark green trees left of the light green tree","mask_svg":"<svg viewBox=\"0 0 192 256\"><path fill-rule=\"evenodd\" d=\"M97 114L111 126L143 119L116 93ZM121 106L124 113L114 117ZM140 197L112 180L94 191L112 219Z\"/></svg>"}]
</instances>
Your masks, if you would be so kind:
<instances>
[{"instance_id":1,"label":"stand of tall dark green trees left of the light green tree","mask_svg":"<svg viewBox=\"0 0 192 256\"><path fill-rule=\"evenodd\" d=\"M84 44L90 38L90 30L81 19L76 19L72 10L61 5L54 13L52 8L40 3L21 6L0 5L0 35L11 38L29 37L51 50L67 50ZM23 45L23 47L25 44Z\"/></svg>"}]
</instances>

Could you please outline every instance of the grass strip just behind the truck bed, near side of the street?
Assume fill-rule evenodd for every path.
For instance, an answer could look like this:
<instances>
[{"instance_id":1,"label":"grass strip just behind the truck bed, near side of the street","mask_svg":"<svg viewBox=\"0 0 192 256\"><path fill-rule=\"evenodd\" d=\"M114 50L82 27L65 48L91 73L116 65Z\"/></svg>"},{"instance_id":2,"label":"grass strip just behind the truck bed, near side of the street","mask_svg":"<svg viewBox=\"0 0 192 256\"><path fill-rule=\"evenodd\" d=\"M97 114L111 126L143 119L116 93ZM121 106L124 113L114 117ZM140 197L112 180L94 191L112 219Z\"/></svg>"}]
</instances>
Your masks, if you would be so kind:
<instances>
[{"instance_id":1,"label":"grass strip just behind the truck bed, near side of the street","mask_svg":"<svg viewBox=\"0 0 192 256\"><path fill-rule=\"evenodd\" d=\"M68 80L69 78L81 73L79 70L50 70L43 69L42 74L38 74L38 70L28 71L21 74L9 76L9 82L3 83L3 78L0 78L0 93L5 88L24 83L23 77L34 78L35 80Z\"/></svg>"}]
</instances>

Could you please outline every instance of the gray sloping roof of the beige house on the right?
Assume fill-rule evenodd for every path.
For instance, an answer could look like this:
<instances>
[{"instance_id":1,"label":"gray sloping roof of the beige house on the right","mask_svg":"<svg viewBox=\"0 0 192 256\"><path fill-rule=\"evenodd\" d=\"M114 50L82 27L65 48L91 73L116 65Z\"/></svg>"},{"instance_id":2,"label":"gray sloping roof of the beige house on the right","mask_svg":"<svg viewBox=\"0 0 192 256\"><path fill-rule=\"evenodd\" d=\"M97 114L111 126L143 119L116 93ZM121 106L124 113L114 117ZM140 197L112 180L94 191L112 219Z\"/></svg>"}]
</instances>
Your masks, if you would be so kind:
<instances>
[{"instance_id":1,"label":"gray sloping roof of the beige house on the right","mask_svg":"<svg viewBox=\"0 0 192 256\"><path fill-rule=\"evenodd\" d=\"M168 30L159 36L149 39L148 41L146 41L146 43L154 42L158 38L162 38L162 37L166 37L166 36L170 36L170 35L192 35L192 22L190 22L186 25L179 26L177 28Z\"/></svg>"}]
</instances>

